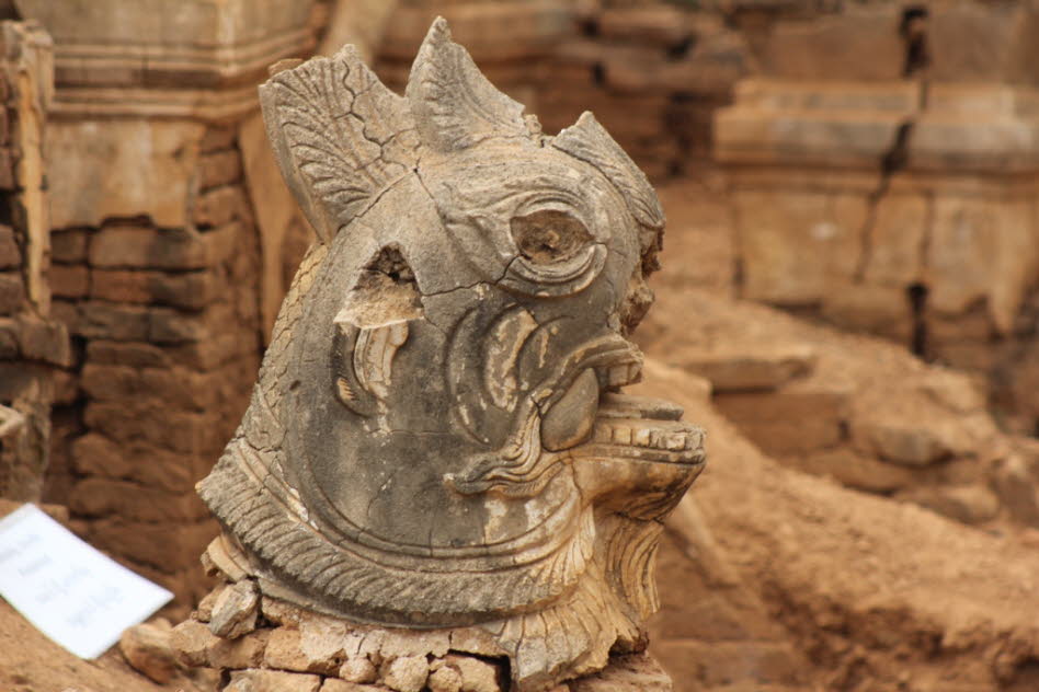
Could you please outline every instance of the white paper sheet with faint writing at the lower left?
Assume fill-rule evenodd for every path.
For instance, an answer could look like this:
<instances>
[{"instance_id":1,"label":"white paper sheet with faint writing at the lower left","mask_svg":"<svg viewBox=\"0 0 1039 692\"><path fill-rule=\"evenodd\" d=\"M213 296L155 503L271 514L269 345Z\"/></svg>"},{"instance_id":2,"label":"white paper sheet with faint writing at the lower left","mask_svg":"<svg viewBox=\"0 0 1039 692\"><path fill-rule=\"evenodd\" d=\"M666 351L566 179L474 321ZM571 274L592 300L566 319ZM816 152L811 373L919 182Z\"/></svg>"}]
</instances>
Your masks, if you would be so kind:
<instances>
[{"instance_id":1,"label":"white paper sheet with faint writing at the lower left","mask_svg":"<svg viewBox=\"0 0 1039 692\"><path fill-rule=\"evenodd\" d=\"M80 658L101 656L173 598L35 505L0 519L0 596Z\"/></svg>"}]
</instances>

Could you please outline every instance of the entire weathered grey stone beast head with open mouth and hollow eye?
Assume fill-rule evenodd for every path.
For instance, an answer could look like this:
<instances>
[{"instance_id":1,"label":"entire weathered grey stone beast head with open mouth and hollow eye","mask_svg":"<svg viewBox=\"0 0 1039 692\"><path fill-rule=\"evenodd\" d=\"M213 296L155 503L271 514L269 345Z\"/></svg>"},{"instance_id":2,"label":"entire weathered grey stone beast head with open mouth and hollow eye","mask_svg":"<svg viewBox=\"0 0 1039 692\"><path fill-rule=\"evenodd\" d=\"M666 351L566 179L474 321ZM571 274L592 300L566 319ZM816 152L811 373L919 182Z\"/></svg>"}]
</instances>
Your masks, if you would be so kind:
<instances>
[{"instance_id":1,"label":"entire weathered grey stone beast head with open mouth and hollow eye","mask_svg":"<svg viewBox=\"0 0 1039 692\"><path fill-rule=\"evenodd\" d=\"M434 22L406 96L352 47L261 102L318 232L199 492L261 589L477 625L521 690L644 645L703 431L640 377L663 214L591 114L556 137Z\"/></svg>"}]
</instances>

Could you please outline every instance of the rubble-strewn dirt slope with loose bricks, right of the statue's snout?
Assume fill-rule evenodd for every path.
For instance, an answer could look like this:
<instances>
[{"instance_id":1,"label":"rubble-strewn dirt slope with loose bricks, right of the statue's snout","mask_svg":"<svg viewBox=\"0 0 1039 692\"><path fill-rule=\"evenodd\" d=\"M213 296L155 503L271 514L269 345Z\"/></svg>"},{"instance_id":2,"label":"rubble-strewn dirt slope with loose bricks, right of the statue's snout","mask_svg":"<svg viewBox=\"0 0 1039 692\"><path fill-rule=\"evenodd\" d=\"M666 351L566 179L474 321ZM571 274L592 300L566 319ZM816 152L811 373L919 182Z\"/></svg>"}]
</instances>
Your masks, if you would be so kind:
<instances>
[{"instance_id":1,"label":"rubble-strewn dirt slope with loose bricks, right of the statue's snout","mask_svg":"<svg viewBox=\"0 0 1039 692\"><path fill-rule=\"evenodd\" d=\"M710 380L717 408L785 465L966 523L1039 527L1039 443L1001 432L982 378L729 298L722 278L690 268L696 247L724 265L720 212L676 206L672 257L692 260L654 277L636 333L648 355Z\"/></svg>"}]
</instances>

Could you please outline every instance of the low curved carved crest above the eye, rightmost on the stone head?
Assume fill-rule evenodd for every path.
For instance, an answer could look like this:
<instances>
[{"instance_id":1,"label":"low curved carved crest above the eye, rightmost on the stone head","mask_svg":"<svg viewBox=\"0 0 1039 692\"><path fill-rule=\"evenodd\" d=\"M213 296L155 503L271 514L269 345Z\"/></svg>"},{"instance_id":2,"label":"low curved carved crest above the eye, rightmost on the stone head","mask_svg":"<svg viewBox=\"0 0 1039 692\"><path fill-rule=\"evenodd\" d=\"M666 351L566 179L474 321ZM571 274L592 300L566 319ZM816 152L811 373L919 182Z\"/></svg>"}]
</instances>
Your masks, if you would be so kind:
<instances>
[{"instance_id":1,"label":"low curved carved crest above the eye, rightmost on the stone head","mask_svg":"<svg viewBox=\"0 0 1039 692\"><path fill-rule=\"evenodd\" d=\"M574 125L552 139L552 147L591 163L620 191L636 220L652 229L664 228L664 211L646 174L620 145L585 111Z\"/></svg>"}]
</instances>

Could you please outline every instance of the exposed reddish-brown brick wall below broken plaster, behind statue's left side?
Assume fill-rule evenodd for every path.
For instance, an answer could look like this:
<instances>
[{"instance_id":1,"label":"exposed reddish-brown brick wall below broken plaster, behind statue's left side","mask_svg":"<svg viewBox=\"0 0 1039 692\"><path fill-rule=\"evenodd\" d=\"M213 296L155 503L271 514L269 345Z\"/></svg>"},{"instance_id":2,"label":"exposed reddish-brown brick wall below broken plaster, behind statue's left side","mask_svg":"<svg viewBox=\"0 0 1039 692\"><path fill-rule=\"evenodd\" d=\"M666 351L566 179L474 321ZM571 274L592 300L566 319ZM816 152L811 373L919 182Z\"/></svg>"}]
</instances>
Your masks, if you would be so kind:
<instances>
[{"instance_id":1,"label":"exposed reddish-brown brick wall below broken plaster, behind statue's left side","mask_svg":"<svg viewBox=\"0 0 1039 692\"><path fill-rule=\"evenodd\" d=\"M233 128L198 142L191 224L55 229L64 371L48 499L78 532L182 602L217 527L194 492L248 402L261 351L259 234Z\"/></svg>"}]
</instances>

